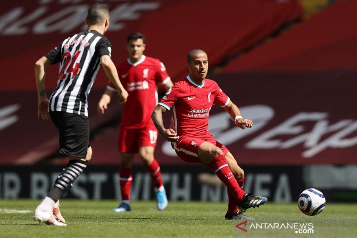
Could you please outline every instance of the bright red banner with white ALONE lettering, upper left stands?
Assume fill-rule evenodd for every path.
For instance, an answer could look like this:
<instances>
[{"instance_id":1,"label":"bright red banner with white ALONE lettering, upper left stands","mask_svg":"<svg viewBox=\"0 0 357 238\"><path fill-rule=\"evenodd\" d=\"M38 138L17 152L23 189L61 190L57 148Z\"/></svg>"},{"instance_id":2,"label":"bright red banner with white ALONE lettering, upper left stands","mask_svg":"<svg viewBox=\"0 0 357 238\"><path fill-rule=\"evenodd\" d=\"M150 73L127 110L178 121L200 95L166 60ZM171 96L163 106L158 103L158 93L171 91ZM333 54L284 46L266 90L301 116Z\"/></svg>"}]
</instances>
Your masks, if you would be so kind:
<instances>
[{"instance_id":1,"label":"bright red banner with white ALONE lettering, upper left stands","mask_svg":"<svg viewBox=\"0 0 357 238\"><path fill-rule=\"evenodd\" d=\"M43 2L41 4L41 2ZM34 64L60 42L85 29L88 7L97 1L16 1L0 9L1 90L34 90ZM133 31L146 35L145 54L164 62L173 80L186 74L186 55L194 48L207 51L211 65L250 47L286 22L298 19L297 1L100 1L109 6L112 59L127 58L126 37ZM4 5L4 4L2 4ZM21 69L21 70L19 70ZM58 69L47 72L47 88L54 88ZM105 87L100 70L94 87Z\"/></svg>"}]
</instances>

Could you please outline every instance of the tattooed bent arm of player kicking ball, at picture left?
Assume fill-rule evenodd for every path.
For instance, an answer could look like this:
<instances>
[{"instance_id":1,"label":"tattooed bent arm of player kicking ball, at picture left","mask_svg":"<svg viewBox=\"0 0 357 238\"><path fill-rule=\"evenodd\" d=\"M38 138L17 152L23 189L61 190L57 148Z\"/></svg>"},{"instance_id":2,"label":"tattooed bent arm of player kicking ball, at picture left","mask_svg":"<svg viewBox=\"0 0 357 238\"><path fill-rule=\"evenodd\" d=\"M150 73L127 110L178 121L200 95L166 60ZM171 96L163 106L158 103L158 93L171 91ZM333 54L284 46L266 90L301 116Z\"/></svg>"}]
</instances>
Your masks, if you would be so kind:
<instances>
[{"instance_id":1,"label":"tattooed bent arm of player kicking ball, at picture left","mask_svg":"<svg viewBox=\"0 0 357 238\"><path fill-rule=\"evenodd\" d=\"M155 125L157 131L159 131L160 135L162 137L164 137L165 140L170 141L170 142L176 142L176 141L178 141L179 137L177 136L175 131L172 130L171 128L166 129L164 127L164 122L162 120L162 114L166 111L167 111L167 109L165 107L163 107L161 105L157 105L154 108L154 111L152 111L151 119L154 122L154 125Z\"/></svg>"}]
</instances>

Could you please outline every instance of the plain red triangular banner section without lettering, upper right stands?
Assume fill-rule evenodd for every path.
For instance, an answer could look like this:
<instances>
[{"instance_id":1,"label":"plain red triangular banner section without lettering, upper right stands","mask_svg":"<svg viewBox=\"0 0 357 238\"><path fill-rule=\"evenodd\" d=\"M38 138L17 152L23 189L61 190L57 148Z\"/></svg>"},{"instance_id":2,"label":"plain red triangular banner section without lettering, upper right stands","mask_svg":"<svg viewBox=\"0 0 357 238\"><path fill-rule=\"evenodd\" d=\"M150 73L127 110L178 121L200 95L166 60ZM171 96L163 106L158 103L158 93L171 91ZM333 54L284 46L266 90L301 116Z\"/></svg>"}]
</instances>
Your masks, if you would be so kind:
<instances>
[{"instance_id":1,"label":"plain red triangular banner section without lettering, upper right stands","mask_svg":"<svg viewBox=\"0 0 357 238\"><path fill-rule=\"evenodd\" d=\"M224 71L357 69L357 2L339 1L249 54Z\"/></svg>"}]
</instances>

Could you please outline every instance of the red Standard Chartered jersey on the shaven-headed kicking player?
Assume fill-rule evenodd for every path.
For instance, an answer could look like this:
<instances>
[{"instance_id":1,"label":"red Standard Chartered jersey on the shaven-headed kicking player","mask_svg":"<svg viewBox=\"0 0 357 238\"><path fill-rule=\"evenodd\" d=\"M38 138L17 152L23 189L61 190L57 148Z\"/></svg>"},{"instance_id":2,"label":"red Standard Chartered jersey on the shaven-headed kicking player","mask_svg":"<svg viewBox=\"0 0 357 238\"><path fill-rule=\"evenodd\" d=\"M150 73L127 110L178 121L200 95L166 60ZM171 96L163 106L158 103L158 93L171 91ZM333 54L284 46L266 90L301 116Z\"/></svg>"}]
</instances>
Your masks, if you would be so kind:
<instances>
[{"instance_id":1,"label":"red Standard Chartered jersey on the shaven-headed kicking player","mask_svg":"<svg viewBox=\"0 0 357 238\"><path fill-rule=\"evenodd\" d=\"M177 136L210 138L208 116L212 105L226 106L230 98L210 79L201 85L193 82L190 76L178 81L161 99L159 105L172 108Z\"/></svg>"}]
</instances>

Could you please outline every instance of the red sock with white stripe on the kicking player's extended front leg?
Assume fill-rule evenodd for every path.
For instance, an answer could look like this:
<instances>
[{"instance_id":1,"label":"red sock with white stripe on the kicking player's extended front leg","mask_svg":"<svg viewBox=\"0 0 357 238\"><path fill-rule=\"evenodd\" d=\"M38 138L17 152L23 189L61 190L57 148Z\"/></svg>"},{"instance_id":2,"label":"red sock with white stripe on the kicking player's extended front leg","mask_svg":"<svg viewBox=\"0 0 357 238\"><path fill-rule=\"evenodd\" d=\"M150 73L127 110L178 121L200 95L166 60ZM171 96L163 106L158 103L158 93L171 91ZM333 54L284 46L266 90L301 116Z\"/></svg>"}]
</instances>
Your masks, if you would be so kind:
<instances>
[{"instance_id":1,"label":"red sock with white stripe on the kicking player's extended front leg","mask_svg":"<svg viewBox=\"0 0 357 238\"><path fill-rule=\"evenodd\" d=\"M245 192L239 187L236 178L228 167L225 155L217 156L212 160L212 163L218 178L227 186L238 202L242 201Z\"/></svg>"}]
</instances>

